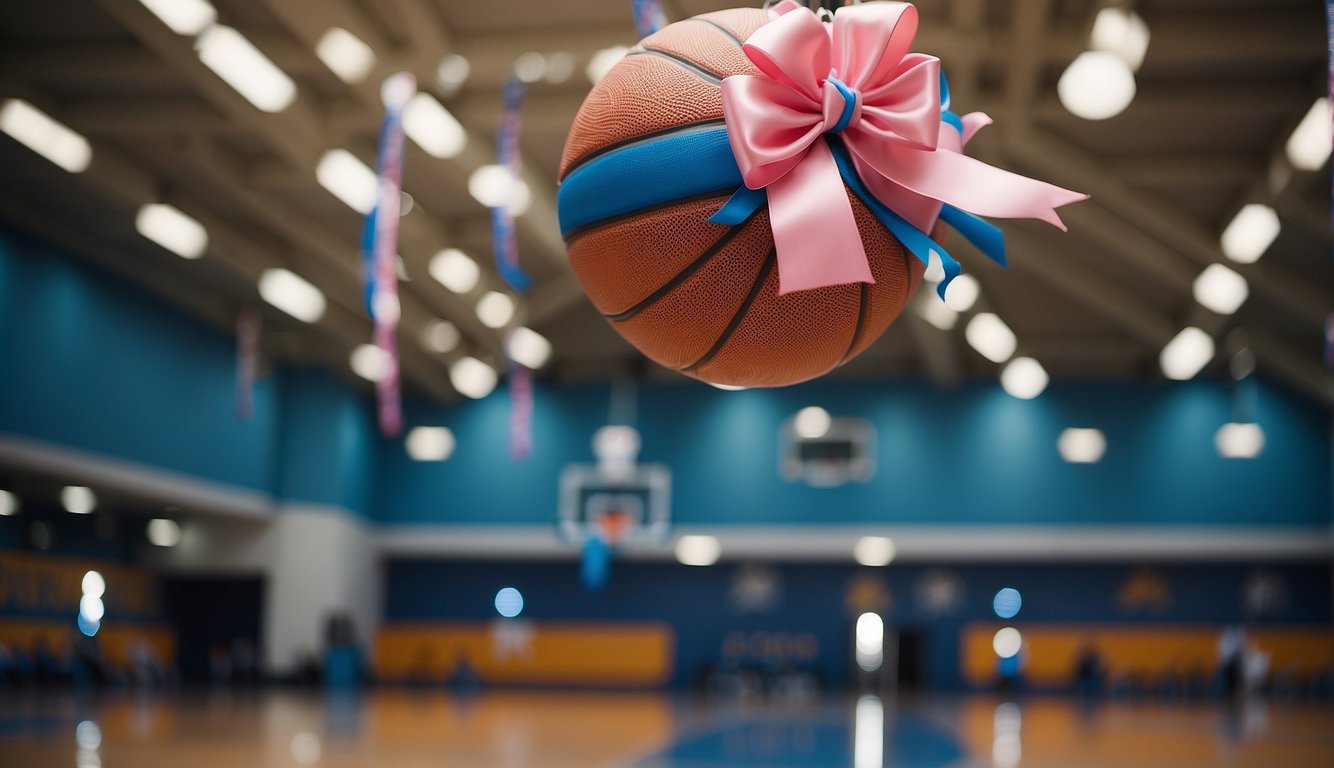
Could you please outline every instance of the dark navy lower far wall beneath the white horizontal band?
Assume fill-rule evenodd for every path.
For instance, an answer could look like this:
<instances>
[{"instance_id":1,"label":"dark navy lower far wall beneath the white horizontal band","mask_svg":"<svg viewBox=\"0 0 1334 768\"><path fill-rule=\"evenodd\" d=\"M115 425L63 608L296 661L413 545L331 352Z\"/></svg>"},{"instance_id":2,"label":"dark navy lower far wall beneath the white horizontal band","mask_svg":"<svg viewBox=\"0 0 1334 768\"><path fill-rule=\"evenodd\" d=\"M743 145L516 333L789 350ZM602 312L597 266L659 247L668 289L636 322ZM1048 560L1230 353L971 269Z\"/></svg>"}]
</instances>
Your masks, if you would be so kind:
<instances>
[{"instance_id":1,"label":"dark navy lower far wall beneath the white horizontal band","mask_svg":"<svg viewBox=\"0 0 1334 768\"><path fill-rule=\"evenodd\" d=\"M690 568L664 563L618 561L607 587L588 593L579 585L579 564L391 560L386 581L386 619L495 619L494 599L502 587L524 596L523 616L543 620L667 621L676 631L672 683L690 684L694 672L716 663L728 632L810 632L819 641L816 667L824 680L847 679L854 611L844 597L859 575L883 581L888 592L887 624L898 632L920 632L927 683L958 687L959 632L968 621L996 620L991 600L1002 587L1023 596L1013 621L1327 625L1329 564L1265 567L1283 597L1263 615L1245 609L1243 585L1255 573L1250 564L1190 564L1154 568L1171 596L1165 609L1126 609L1117 596L1133 564L931 565L958 579L962 600L955 612L932 616L918 597L922 565L863 569L851 564L782 564L779 600L766 612L743 612L728 597L735 564ZM1165 660L1166 663L1166 660Z\"/></svg>"}]
</instances>

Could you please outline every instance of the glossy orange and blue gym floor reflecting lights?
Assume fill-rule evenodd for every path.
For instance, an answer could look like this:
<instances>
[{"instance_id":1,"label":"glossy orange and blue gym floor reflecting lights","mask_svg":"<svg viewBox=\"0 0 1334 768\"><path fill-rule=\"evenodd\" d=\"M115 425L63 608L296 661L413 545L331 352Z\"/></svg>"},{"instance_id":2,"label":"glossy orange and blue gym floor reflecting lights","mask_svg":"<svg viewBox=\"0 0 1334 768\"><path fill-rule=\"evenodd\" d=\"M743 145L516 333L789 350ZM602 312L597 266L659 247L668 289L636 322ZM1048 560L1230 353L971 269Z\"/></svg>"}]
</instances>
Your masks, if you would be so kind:
<instances>
[{"instance_id":1,"label":"glossy orange and blue gym floor reflecting lights","mask_svg":"<svg viewBox=\"0 0 1334 768\"><path fill-rule=\"evenodd\" d=\"M1307 767L1334 708L994 696L742 704L655 693L0 696L0 765L47 768Z\"/></svg>"}]
</instances>

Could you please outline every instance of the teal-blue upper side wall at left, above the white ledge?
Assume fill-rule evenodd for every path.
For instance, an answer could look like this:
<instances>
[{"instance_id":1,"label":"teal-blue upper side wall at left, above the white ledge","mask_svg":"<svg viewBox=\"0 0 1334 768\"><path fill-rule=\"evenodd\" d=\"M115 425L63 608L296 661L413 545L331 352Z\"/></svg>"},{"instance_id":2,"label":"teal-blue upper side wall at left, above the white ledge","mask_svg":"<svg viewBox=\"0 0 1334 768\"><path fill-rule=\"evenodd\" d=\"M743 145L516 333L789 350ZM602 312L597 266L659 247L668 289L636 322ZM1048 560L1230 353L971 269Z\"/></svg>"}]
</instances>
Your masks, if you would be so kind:
<instances>
[{"instance_id":1,"label":"teal-blue upper side wall at left, above the white ledge","mask_svg":"<svg viewBox=\"0 0 1334 768\"><path fill-rule=\"evenodd\" d=\"M279 499L370 512L370 403L275 367L235 415L235 339L136 288L0 233L0 433Z\"/></svg>"}]
</instances>

